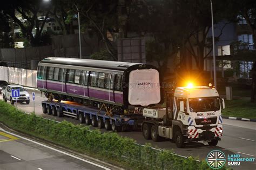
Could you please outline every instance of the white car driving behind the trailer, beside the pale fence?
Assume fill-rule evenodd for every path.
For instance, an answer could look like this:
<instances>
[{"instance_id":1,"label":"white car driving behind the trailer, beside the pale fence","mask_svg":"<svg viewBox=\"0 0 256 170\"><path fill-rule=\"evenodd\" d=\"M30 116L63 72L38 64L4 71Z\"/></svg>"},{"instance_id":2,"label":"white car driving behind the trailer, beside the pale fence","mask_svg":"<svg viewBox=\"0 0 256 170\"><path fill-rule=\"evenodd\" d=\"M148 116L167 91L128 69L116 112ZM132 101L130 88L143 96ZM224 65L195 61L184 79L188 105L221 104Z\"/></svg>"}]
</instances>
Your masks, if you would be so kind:
<instances>
[{"instance_id":1,"label":"white car driving behind the trailer, beside the pale fence","mask_svg":"<svg viewBox=\"0 0 256 170\"><path fill-rule=\"evenodd\" d=\"M12 97L12 93L11 93L12 89L19 89L19 97ZM22 103L25 101L26 104L29 104L30 102L29 93L21 85L8 85L2 90L2 92L3 92L3 100L5 102L7 100L10 100L12 105L15 102Z\"/></svg>"}]
</instances>

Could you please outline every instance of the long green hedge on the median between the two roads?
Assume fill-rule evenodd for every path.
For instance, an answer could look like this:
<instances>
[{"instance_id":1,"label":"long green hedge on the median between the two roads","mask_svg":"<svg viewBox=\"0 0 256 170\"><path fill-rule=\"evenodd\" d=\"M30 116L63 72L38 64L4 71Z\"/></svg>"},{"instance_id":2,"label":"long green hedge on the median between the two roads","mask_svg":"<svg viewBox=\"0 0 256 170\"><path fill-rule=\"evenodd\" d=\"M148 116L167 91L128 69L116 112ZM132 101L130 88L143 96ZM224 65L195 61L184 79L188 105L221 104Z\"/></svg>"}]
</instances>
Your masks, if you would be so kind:
<instances>
[{"instance_id":1,"label":"long green hedge on the median between the two roads","mask_svg":"<svg viewBox=\"0 0 256 170\"><path fill-rule=\"evenodd\" d=\"M3 101L0 101L0 121L14 130L132 169L211 169L206 161L181 158L171 151L154 149L150 144L138 145L135 140L120 137L117 133L100 133L65 120L57 123L33 113L24 114Z\"/></svg>"}]
</instances>

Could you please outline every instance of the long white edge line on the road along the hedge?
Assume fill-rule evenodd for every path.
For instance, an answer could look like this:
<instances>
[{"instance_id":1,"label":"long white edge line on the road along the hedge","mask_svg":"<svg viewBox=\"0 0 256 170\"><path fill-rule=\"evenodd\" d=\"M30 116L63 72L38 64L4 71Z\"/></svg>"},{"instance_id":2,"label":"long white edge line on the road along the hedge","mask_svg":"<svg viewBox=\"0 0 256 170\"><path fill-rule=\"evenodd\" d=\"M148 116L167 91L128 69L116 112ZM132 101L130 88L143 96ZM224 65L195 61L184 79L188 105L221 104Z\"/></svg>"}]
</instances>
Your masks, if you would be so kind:
<instances>
[{"instance_id":1,"label":"long white edge line on the road along the hedge","mask_svg":"<svg viewBox=\"0 0 256 170\"><path fill-rule=\"evenodd\" d=\"M68 155L68 156L70 156L70 157L72 157L72 158L76 158L76 159L79 159L79 160L81 160L81 161L87 162L87 163L89 163L89 164L91 164L91 165L94 165L94 166L97 166L97 167L100 167L100 168L103 168L103 169L110 170L110 168L107 168L107 167L104 167L104 166L102 166L102 165L96 164L95 162L91 162L91 161L89 161L89 160L86 160L86 159L83 159L83 158L79 158L79 157L77 157L77 156L75 156L75 155L66 153L66 152L64 152L64 151L60 151L59 149L56 149L56 148L53 148L53 147L50 147L50 146L41 144L41 143L39 143L39 142L37 142L37 141L33 141L33 140L31 140L31 139L28 139L28 138L24 138L24 137L22 137L22 136L20 136L20 135L14 134L14 133L5 131L5 130L3 130L3 128L0 128L0 130L3 131L3 132L5 132L5 133L9 133L9 134L11 134L11 135L14 135L14 136L16 136L16 137L18 137L18 138L25 139L25 140L28 140L28 141L30 141L30 142L33 142L33 143L35 143L35 144L37 144L37 145L41 145L41 146L44 146L44 147L46 147L46 148L52 149L53 151L56 151L56 152L59 152L59 153Z\"/></svg>"}]
</instances>

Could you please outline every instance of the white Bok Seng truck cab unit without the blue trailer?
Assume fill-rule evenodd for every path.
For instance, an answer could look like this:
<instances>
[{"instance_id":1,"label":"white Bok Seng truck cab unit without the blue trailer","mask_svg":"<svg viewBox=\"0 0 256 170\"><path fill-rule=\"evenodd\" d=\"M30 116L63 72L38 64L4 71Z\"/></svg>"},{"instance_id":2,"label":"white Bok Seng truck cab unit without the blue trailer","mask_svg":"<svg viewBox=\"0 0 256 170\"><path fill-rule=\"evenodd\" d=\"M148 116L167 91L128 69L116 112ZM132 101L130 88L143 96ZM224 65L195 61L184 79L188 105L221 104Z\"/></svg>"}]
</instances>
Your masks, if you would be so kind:
<instances>
[{"instance_id":1,"label":"white Bok Seng truck cab unit without the blue trailer","mask_svg":"<svg viewBox=\"0 0 256 170\"><path fill-rule=\"evenodd\" d=\"M218 144L223 135L221 109L225 104L216 89L208 86L177 87L166 98L171 98L171 107L143 110L146 121L142 128L146 139L170 138L178 147L184 147L189 141L204 141L211 146ZM157 131L152 131L152 128Z\"/></svg>"}]
</instances>

